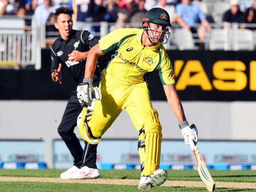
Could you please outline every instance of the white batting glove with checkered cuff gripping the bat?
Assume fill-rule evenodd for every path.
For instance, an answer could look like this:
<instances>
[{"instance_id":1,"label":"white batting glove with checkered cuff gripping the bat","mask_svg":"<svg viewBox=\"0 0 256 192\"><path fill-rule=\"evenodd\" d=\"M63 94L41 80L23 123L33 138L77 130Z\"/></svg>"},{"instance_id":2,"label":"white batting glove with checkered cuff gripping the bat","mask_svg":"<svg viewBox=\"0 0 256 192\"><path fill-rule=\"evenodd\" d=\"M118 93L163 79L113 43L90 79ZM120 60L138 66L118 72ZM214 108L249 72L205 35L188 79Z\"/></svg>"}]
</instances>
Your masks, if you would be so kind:
<instances>
[{"instance_id":1,"label":"white batting glove with checkered cuff gripping the bat","mask_svg":"<svg viewBox=\"0 0 256 192\"><path fill-rule=\"evenodd\" d=\"M189 126L187 121L180 122L179 124L182 136L184 137L185 144L189 145L189 138L191 138L195 145L197 145L198 131L197 127L192 124Z\"/></svg>"}]
</instances>

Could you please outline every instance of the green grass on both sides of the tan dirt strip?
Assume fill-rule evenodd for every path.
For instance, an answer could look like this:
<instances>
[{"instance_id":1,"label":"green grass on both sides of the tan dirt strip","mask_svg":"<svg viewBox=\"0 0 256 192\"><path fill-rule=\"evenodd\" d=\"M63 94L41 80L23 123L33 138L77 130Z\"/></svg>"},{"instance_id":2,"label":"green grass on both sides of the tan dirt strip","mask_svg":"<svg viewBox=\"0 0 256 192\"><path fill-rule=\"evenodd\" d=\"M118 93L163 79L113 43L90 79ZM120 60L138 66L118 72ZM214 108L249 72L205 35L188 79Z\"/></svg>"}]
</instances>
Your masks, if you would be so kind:
<instances>
[{"instance_id":1,"label":"green grass on both sides of the tan dirt strip","mask_svg":"<svg viewBox=\"0 0 256 192\"><path fill-rule=\"evenodd\" d=\"M5 170L0 169L0 176L10 177L53 177L59 178L64 170ZM178 181L201 181L196 170L167 170L167 180ZM210 170L211 176L215 181L226 182L248 182L256 183L256 171L216 171ZM102 179L139 179L139 170L100 170ZM0 192L128 192L139 191L137 186L131 185L103 185L103 184L81 184L81 183L46 183L46 182L0 182ZM189 188L189 187L168 187L158 186L151 190L152 192L196 192L207 191L206 188ZM220 192L238 192L238 191L255 191L256 189L237 189L237 188L216 188Z\"/></svg>"}]
</instances>

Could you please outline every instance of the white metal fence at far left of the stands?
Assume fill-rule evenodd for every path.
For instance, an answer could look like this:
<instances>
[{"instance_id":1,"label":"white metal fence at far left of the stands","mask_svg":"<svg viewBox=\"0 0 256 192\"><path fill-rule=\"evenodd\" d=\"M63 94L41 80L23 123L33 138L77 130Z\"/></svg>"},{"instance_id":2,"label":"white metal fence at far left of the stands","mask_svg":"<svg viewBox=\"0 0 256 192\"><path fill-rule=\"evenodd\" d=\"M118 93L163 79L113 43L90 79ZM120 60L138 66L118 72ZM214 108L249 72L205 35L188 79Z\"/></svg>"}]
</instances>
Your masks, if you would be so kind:
<instances>
[{"instance_id":1,"label":"white metal fence at far left of the stands","mask_svg":"<svg viewBox=\"0 0 256 192\"><path fill-rule=\"evenodd\" d=\"M41 68L41 48L35 18L3 16L0 18L0 67Z\"/></svg>"}]
</instances>

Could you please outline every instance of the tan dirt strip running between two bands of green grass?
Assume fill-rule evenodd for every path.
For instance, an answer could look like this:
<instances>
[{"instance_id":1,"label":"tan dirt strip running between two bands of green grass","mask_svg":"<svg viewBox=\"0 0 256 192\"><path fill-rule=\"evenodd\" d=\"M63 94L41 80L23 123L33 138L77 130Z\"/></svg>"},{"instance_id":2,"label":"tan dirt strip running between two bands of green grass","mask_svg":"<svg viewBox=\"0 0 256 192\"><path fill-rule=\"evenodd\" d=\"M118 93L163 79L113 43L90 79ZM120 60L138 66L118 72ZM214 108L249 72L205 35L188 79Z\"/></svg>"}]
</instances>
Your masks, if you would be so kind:
<instances>
[{"instance_id":1,"label":"tan dirt strip running between two bands of green grass","mask_svg":"<svg viewBox=\"0 0 256 192\"><path fill-rule=\"evenodd\" d=\"M50 177L0 177L0 181L33 181L50 183L92 183L113 185L138 185L137 179L60 179ZM201 181L165 181L162 186L204 187ZM216 182L216 188L256 189L256 183Z\"/></svg>"}]
</instances>

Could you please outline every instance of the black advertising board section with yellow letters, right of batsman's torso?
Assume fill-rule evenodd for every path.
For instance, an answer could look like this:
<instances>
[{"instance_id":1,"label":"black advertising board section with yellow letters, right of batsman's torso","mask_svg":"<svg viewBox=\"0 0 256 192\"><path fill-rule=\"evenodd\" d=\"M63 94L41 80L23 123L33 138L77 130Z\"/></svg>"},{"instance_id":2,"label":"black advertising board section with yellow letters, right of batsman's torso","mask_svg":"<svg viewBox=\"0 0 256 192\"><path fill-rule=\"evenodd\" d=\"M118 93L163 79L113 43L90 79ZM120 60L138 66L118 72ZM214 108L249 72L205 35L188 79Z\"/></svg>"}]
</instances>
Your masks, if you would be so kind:
<instances>
[{"instance_id":1,"label":"black advertising board section with yellow letters, right of batsman's torso","mask_svg":"<svg viewBox=\"0 0 256 192\"><path fill-rule=\"evenodd\" d=\"M256 55L234 51L168 51L181 100L256 100ZM165 100L163 88L149 77L152 100ZM150 85L153 84L153 85ZM159 86L160 85L160 86ZM160 88L161 87L161 88ZM160 90L161 89L161 90Z\"/></svg>"}]
</instances>

